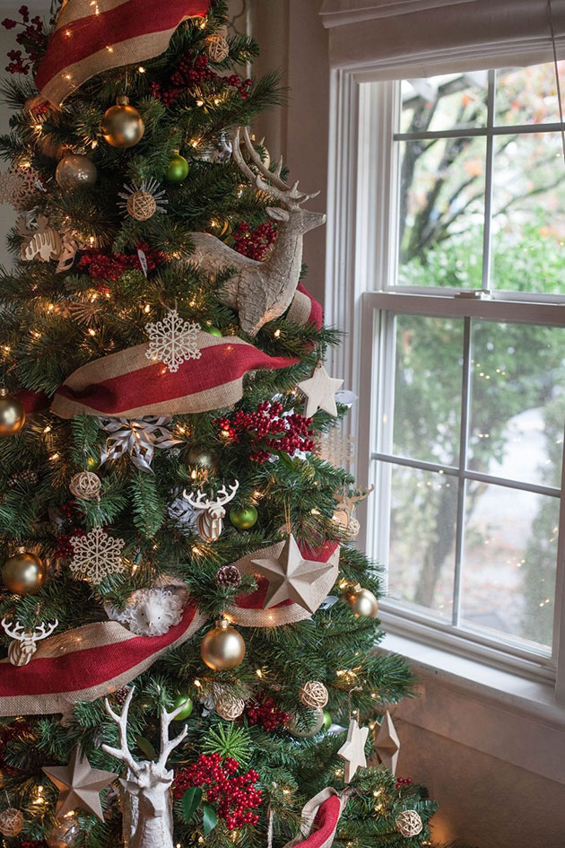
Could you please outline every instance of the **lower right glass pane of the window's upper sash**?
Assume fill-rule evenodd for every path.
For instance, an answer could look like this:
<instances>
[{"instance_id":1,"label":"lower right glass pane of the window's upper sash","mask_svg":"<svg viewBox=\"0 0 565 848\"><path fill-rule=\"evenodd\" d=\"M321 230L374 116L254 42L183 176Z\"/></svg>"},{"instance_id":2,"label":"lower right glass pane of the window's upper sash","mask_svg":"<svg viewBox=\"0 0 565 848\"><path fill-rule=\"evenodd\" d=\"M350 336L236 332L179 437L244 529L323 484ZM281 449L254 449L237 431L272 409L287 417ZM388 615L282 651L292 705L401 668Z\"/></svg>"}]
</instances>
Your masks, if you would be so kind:
<instances>
[{"instance_id":1,"label":"lower right glass pane of the window's upper sash","mask_svg":"<svg viewBox=\"0 0 565 848\"><path fill-rule=\"evenodd\" d=\"M494 141L492 287L565 293L565 166L559 133Z\"/></svg>"}]
</instances>

